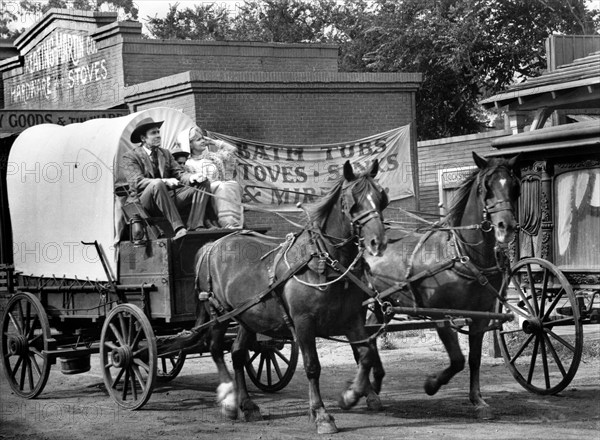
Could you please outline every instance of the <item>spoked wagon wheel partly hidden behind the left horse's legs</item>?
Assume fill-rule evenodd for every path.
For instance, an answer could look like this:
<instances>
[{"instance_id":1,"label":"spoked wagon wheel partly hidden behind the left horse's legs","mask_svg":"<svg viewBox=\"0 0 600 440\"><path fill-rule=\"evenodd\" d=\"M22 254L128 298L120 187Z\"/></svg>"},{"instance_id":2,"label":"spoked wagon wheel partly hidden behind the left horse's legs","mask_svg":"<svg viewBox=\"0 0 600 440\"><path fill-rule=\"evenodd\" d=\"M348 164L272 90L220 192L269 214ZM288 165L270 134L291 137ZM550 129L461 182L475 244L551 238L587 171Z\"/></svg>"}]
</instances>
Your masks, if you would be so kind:
<instances>
[{"instance_id":1,"label":"spoked wagon wheel partly hidden behind the left horse's legs","mask_svg":"<svg viewBox=\"0 0 600 440\"><path fill-rule=\"evenodd\" d=\"M283 389L298 365L298 344L289 339L257 341L246 362L248 377L267 393Z\"/></svg>"}]
</instances>

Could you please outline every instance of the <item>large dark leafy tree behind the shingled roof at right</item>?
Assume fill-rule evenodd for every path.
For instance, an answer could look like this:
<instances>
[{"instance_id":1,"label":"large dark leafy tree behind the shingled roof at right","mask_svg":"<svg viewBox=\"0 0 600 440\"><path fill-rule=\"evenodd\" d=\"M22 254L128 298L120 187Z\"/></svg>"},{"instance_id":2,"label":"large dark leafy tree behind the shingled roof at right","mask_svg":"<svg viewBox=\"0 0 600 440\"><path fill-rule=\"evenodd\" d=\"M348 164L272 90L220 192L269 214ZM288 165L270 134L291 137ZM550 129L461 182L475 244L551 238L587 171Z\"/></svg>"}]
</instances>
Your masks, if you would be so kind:
<instances>
[{"instance_id":1,"label":"large dark leafy tree behind the shingled roof at right","mask_svg":"<svg viewBox=\"0 0 600 440\"><path fill-rule=\"evenodd\" d=\"M354 2L360 3L360 2ZM477 102L545 68L553 32L594 33L584 0L374 0L342 43L350 71L422 72L421 139L468 134L483 123ZM350 35L350 34L348 34Z\"/></svg>"}]
</instances>

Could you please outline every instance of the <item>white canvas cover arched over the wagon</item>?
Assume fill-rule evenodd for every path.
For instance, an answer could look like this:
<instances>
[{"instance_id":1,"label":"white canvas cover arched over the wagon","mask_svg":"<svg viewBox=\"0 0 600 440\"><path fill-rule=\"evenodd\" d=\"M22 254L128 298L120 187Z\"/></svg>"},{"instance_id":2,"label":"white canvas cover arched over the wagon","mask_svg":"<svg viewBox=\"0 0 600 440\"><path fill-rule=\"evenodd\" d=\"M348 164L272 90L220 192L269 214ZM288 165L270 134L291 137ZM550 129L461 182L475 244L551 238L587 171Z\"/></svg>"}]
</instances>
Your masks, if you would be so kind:
<instances>
[{"instance_id":1,"label":"white canvas cover arched over the wagon","mask_svg":"<svg viewBox=\"0 0 600 440\"><path fill-rule=\"evenodd\" d=\"M122 212L115 184L126 182L120 162L134 146L131 132L147 117L165 121L161 137L168 149L195 125L180 111L162 107L66 126L38 125L15 140L7 168L15 270L107 281L94 246L82 244L98 241L117 274Z\"/></svg>"}]
</instances>

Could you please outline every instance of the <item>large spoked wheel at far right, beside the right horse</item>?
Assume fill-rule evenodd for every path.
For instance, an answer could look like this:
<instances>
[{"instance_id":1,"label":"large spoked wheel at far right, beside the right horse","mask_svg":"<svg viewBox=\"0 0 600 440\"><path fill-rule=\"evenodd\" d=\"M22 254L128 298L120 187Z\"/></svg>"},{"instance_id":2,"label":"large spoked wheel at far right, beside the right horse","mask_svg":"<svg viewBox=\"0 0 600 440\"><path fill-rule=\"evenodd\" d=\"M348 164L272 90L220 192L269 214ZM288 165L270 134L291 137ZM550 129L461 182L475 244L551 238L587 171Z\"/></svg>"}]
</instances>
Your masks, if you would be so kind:
<instances>
[{"instance_id":1,"label":"large spoked wheel at far right, beside the right horse","mask_svg":"<svg viewBox=\"0 0 600 440\"><path fill-rule=\"evenodd\" d=\"M529 391L556 394L569 385L581 360L583 330L573 289L556 266L537 258L511 269L509 288L516 297L498 311L513 312L515 321L496 330L504 362Z\"/></svg>"}]
</instances>

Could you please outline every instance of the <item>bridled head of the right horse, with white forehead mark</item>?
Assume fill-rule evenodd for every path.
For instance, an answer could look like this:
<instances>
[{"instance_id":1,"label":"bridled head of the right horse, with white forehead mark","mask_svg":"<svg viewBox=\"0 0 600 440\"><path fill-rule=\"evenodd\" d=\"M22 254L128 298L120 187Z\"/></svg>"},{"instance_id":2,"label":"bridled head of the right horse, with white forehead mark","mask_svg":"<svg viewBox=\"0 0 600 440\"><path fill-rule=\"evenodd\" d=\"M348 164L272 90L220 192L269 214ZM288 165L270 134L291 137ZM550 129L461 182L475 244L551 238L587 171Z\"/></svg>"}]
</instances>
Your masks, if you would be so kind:
<instances>
[{"instance_id":1,"label":"bridled head of the right horse, with white forehead mark","mask_svg":"<svg viewBox=\"0 0 600 440\"><path fill-rule=\"evenodd\" d=\"M494 228L496 241L508 243L517 230L515 210L520 194L518 169L515 167L519 156L510 159L490 159L489 161L473 152L475 164L480 169L478 192L483 204L484 224Z\"/></svg>"}]
</instances>

